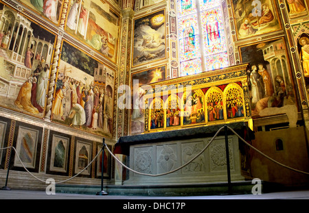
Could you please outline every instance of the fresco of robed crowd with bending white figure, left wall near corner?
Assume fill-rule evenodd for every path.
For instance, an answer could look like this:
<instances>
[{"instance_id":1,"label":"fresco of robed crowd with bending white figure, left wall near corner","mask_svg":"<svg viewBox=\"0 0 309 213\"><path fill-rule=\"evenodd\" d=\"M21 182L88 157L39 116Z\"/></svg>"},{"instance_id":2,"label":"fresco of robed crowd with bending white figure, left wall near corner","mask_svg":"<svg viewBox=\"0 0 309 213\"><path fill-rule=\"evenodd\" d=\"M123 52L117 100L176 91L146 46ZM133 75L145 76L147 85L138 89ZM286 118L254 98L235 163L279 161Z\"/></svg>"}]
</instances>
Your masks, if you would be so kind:
<instances>
[{"instance_id":1,"label":"fresco of robed crowd with bending white figure, left wall near corner","mask_svg":"<svg viewBox=\"0 0 309 213\"><path fill-rule=\"evenodd\" d=\"M93 134L111 136L114 73L105 64L63 42L52 121Z\"/></svg>"}]
</instances>

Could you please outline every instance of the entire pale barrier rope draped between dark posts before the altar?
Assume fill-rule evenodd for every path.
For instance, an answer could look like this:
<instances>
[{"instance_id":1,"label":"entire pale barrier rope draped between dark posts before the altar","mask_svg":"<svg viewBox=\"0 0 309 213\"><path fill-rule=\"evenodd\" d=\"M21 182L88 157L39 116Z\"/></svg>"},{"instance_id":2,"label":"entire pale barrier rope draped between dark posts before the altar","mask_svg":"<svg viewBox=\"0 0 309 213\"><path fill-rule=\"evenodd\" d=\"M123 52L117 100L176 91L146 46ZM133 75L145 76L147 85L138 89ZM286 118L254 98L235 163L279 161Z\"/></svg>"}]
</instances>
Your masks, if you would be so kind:
<instances>
[{"instance_id":1,"label":"entire pale barrier rope draped between dark posts before the altar","mask_svg":"<svg viewBox=\"0 0 309 213\"><path fill-rule=\"evenodd\" d=\"M190 164L192 161L194 161L196 158L198 158L198 156L201 155L201 154L209 147L209 145L211 145L211 142L214 141L214 139L216 138L216 136L218 136L218 134L220 133L220 131L221 131L223 128L225 128L225 127L224 127L224 126L223 126L223 127L220 127L220 129L218 129L218 131L216 132L216 134L214 135L214 137L211 138L211 140L207 143L207 145L206 145L197 155L195 155L194 158L192 158L190 161L186 162L186 163L183 164L182 166L179 166L178 168L175 168L175 169L172 170L172 171L169 171L169 172L166 172L166 173L155 174L155 175L154 175L154 174L148 174L148 173L140 173L139 171L135 171L135 170L133 170L132 168L129 168L128 166L124 165L124 164L111 152L110 149L108 149L108 147L107 147L107 145L106 145L105 143L104 143L104 145L105 145L105 147L106 147L108 153L110 153L111 156L113 156L113 158L115 158L115 160L116 160L117 162L119 162L119 164L121 164L122 166L124 166L124 168L127 168L129 171L132 171L133 173L137 173L137 174L139 174L139 175L146 175L146 176L151 176L151 177L159 177L159 176L162 176L162 175L168 175L168 174L170 174L170 173L174 173L174 172L176 172L176 171L179 171L181 168L187 166L187 165ZM291 168L290 166L286 166L286 165L284 165L284 164L282 164L282 163L280 163L280 162L277 162L277 160L274 160L273 158L271 158L271 157L269 157L268 155L262 153L262 151L256 149L256 148L253 147L251 144L249 144L246 140L244 140L241 136L239 136L239 135L236 133L236 131L234 131L233 129L231 129L231 127L227 127L227 128L230 129L230 130L233 132L233 134L235 134L236 136L238 136L238 138L240 138L240 140L242 140L242 142L244 142L246 145L248 145L249 147L251 147L253 150L257 151L257 152L260 153L261 155L263 155L263 156L264 156L265 158L267 158L268 160L271 160L271 161L275 162L276 164L279 164L280 166L284 166L285 168L288 168L288 169L290 169L290 170L292 170L292 171L296 171L296 172L298 172L298 173L303 173L303 174L305 174L305 175L309 175L309 173L307 173L307 172L299 171L299 170L297 170L297 169L295 169L295 168ZM19 157L19 154L17 153L15 147L0 148L0 150L3 150L3 149L14 149L14 151L15 151L17 157L19 158L19 161L20 161L21 164L23 165L23 168L25 168L25 171L27 171L27 173L30 173L30 175L32 175L32 177L34 177L34 178L37 179L38 181L43 181L44 183L46 182L45 180L39 179L38 177L34 176L30 171L27 170L27 168L25 167L25 165L24 165L23 162L21 161L21 158ZM82 169L82 171L80 171L80 172L77 173L76 175L70 177L69 179L65 179L65 180L63 180L63 181L58 181L58 182L56 182L55 184L64 183L65 181L69 181L69 180L71 180L71 179L77 177L78 175L80 175L80 173L82 173L83 171L85 171L85 170L93 163L93 161L94 161L96 158L98 158L100 152L103 151L103 149L104 149L104 146L103 146L102 149L98 152L98 154L95 155L95 158L93 158L93 160L91 160L91 162L90 162L86 167L84 167L84 168ZM12 153L10 153L10 154L12 154ZM9 168L8 168L8 169L9 169Z\"/></svg>"}]
</instances>

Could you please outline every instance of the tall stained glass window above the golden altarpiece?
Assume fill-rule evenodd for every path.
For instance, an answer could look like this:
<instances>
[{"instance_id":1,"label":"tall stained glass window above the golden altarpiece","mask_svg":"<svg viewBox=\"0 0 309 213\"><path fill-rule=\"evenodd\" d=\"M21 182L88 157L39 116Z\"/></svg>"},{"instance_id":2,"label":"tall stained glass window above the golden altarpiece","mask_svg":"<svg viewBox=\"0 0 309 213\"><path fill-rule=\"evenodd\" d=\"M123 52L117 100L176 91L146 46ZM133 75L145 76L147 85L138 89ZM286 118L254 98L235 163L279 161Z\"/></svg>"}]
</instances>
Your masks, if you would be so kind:
<instances>
[{"instance_id":1,"label":"tall stained glass window above the golden altarpiece","mask_svg":"<svg viewBox=\"0 0 309 213\"><path fill-rule=\"evenodd\" d=\"M218 0L177 0L180 75L229 65L222 9Z\"/></svg>"}]
</instances>

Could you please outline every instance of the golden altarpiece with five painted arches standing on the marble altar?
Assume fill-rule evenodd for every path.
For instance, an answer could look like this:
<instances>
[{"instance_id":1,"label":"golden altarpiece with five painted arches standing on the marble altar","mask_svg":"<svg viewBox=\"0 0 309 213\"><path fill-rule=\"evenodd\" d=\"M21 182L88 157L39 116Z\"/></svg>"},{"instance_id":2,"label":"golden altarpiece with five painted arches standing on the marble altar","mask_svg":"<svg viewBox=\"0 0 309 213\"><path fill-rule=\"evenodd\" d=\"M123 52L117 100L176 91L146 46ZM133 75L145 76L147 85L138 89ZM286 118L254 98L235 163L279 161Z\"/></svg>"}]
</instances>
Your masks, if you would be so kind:
<instances>
[{"instance_id":1,"label":"golden altarpiece with five painted arches standing on the marble altar","mask_svg":"<svg viewBox=\"0 0 309 213\"><path fill-rule=\"evenodd\" d=\"M240 121L251 126L248 65L150 84L144 95L144 133Z\"/></svg>"}]
</instances>

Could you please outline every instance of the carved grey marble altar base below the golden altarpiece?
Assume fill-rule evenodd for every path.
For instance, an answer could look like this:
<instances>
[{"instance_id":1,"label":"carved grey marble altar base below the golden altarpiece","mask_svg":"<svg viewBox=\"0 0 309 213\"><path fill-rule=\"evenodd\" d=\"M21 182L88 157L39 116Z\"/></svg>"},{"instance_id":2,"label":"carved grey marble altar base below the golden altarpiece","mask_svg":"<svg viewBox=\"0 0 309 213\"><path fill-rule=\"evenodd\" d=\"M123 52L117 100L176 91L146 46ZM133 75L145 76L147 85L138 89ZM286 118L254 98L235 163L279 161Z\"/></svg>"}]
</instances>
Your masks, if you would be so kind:
<instances>
[{"instance_id":1,"label":"carved grey marble altar base below the golden altarpiece","mask_svg":"<svg viewBox=\"0 0 309 213\"><path fill-rule=\"evenodd\" d=\"M246 123L231 123L229 127L242 135ZM194 127L174 131L153 132L138 136L124 136L116 144L116 153L129 156L130 171L124 184L201 184L227 181L227 160L224 129L211 145L187 166L174 173L152 177L144 174L163 174L189 162L204 149L218 129L224 125ZM244 180L238 137L228 131L229 161L232 181Z\"/></svg>"}]
</instances>

